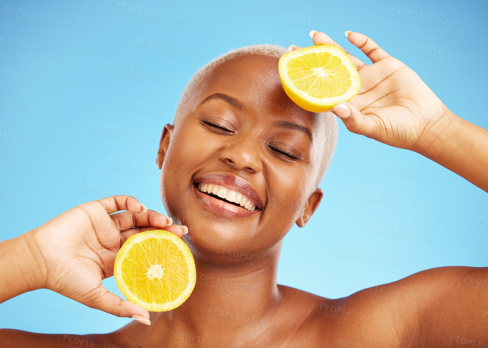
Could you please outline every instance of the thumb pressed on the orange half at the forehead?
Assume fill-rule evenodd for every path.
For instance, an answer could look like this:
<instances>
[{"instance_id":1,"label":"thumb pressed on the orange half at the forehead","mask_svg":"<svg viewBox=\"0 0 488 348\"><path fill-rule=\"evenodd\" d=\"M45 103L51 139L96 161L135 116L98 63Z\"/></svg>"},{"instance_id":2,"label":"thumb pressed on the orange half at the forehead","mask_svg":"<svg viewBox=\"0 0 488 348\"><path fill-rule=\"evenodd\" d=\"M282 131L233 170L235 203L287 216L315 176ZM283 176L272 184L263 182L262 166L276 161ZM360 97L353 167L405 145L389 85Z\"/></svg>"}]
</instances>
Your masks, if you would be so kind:
<instances>
[{"instance_id":1,"label":"thumb pressed on the orange half at the forehead","mask_svg":"<svg viewBox=\"0 0 488 348\"><path fill-rule=\"evenodd\" d=\"M356 134L375 138L379 133L378 124L371 115L363 115L349 103L339 103L334 106L334 112L344 122L346 128Z\"/></svg>"}]
</instances>

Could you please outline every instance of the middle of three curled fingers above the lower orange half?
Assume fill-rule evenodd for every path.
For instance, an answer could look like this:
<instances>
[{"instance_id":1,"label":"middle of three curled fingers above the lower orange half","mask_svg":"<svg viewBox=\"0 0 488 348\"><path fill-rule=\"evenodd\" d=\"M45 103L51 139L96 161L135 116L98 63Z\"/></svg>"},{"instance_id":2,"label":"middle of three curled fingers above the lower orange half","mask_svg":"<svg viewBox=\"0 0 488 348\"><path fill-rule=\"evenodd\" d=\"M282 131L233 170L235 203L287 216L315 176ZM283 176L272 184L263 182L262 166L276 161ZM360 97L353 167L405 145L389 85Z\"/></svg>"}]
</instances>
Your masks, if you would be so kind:
<instances>
[{"instance_id":1,"label":"middle of three curled fingers above the lower orange half","mask_svg":"<svg viewBox=\"0 0 488 348\"><path fill-rule=\"evenodd\" d=\"M171 217L166 217L154 210L145 213L122 212L110 215L119 231L125 231L133 227L152 226L163 228L173 223Z\"/></svg>"}]
</instances>

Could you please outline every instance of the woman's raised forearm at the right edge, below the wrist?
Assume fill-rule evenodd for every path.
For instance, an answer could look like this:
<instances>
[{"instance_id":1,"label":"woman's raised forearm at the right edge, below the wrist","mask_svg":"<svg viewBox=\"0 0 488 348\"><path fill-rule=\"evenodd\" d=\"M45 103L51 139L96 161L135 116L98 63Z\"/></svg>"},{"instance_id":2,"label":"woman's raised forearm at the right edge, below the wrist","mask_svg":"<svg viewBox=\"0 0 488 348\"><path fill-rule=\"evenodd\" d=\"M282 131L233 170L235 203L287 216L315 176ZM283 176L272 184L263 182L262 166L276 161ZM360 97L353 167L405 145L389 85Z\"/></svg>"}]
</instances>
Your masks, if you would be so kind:
<instances>
[{"instance_id":1,"label":"woman's raised forearm at the right edge, below the wrist","mask_svg":"<svg viewBox=\"0 0 488 348\"><path fill-rule=\"evenodd\" d=\"M447 111L414 151L488 192L488 131Z\"/></svg>"}]
</instances>

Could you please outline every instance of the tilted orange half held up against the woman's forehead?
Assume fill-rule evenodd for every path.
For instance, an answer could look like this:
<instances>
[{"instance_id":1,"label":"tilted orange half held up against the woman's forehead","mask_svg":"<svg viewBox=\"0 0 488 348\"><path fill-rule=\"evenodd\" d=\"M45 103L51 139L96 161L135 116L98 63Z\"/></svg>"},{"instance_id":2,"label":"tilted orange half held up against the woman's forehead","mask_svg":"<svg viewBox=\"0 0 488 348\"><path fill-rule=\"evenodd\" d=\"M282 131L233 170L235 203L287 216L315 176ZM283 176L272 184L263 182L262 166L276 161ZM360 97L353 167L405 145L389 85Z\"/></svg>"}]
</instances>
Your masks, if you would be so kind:
<instances>
[{"instance_id":1,"label":"tilted orange half held up against the woman's forehead","mask_svg":"<svg viewBox=\"0 0 488 348\"><path fill-rule=\"evenodd\" d=\"M278 64L286 95L307 111L330 111L351 100L361 88L352 60L336 45L294 50L281 56Z\"/></svg>"}]
</instances>

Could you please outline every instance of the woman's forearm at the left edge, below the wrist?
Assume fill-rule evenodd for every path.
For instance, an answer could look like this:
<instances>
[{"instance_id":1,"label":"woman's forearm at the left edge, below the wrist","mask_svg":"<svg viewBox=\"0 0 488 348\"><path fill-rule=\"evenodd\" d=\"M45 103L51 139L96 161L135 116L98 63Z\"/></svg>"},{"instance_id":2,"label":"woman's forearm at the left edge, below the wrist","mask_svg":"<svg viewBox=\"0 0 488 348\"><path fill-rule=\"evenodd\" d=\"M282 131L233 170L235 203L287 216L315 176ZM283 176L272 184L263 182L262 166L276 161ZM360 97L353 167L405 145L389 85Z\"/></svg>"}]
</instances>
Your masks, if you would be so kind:
<instances>
[{"instance_id":1,"label":"woman's forearm at the left edge, below the wrist","mask_svg":"<svg viewBox=\"0 0 488 348\"><path fill-rule=\"evenodd\" d=\"M27 233L0 242L0 303L42 287L39 251Z\"/></svg>"}]
</instances>

